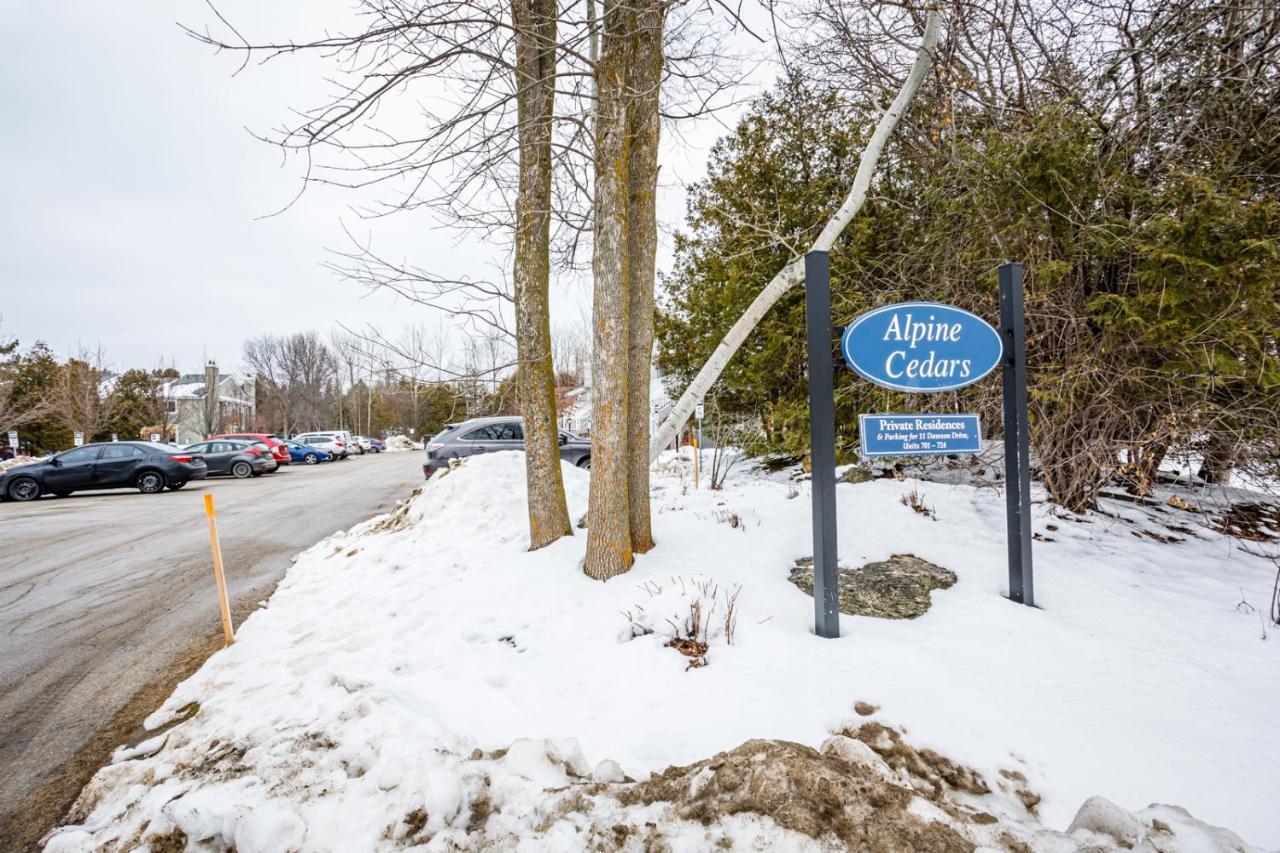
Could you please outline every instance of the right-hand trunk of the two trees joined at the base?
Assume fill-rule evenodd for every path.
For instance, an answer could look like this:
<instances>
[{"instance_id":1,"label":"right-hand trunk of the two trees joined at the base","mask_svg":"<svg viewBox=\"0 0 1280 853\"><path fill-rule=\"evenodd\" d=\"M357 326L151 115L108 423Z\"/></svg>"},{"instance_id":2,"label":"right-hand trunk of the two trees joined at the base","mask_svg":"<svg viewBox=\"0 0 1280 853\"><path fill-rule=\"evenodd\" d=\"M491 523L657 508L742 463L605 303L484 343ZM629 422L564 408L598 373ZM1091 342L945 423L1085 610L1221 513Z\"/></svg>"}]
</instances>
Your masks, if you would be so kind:
<instances>
[{"instance_id":1,"label":"right-hand trunk of the two trees joined at the base","mask_svg":"<svg viewBox=\"0 0 1280 853\"><path fill-rule=\"evenodd\" d=\"M636 6L628 65L627 138L627 491L631 549L653 548L649 517L649 375L653 360L654 270L658 255L658 138L664 8Z\"/></svg>"}]
</instances>

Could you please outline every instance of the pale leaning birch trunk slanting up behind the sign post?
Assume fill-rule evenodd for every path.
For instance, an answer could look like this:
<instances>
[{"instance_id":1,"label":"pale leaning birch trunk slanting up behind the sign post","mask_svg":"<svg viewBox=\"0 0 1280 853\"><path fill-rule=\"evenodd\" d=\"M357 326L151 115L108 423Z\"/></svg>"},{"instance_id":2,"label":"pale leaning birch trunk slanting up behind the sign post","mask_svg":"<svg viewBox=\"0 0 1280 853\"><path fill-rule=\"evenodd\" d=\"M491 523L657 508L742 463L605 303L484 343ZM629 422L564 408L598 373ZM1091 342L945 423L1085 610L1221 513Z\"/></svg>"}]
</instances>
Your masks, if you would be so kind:
<instances>
[{"instance_id":1,"label":"pale leaning birch trunk slanting up behind the sign post","mask_svg":"<svg viewBox=\"0 0 1280 853\"><path fill-rule=\"evenodd\" d=\"M910 106L911 100L915 97L915 92L920 88L920 83L924 81L929 67L933 63L934 49L938 44L938 31L941 29L941 13L938 9L931 9L928 18L924 22L924 36L920 40L920 46L915 51L915 61L911 63L911 69L906 74L906 79L902 81L902 86L897 92L897 96L890 104L884 114L881 115L879 122L876 124L876 132L872 138L867 142L867 147L863 149L863 154L858 161L858 172L854 174L854 183L849 188L849 195L845 196L845 201L840 205L836 213L827 220L826 227L818 238L814 240L813 246L809 251L831 251L835 245L836 238L840 237L841 232L852 222L858 211L861 210L863 204L867 201L867 192L870 188L872 177L876 174L876 167L879 163L881 154L884 151L884 145L888 138L893 134L893 129L897 127L899 120L906 113L908 106ZM769 309L773 307L782 295L788 289L804 280L804 256L796 256L786 266L783 266L778 273L764 286L759 296L751 301L742 316L733 323L733 327L724 334L721 342L716 346L707 364L703 365L694 380L689 383L685 392L676 401L676 405L667 412L658 429L654 430L652 442L649 444L649 459L655 460L667 444L676 438L681 426L689 421L692 415L694 409L703 401L707 392L710 391L716 380L719 379L721 373L724 366L730 362L733 355L737 352L742 342L751 333L753 329L759 324L759 321L768 314Z\"/></svg>"}]
</instances>

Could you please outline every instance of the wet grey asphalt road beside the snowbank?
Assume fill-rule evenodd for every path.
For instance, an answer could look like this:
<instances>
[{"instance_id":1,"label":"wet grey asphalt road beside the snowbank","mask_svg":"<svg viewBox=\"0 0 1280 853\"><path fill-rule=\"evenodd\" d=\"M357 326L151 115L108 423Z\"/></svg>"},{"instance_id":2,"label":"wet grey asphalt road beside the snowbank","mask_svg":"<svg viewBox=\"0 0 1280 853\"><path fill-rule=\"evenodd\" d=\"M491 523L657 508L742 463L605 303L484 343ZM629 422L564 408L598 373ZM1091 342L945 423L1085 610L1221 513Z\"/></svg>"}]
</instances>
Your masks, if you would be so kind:
<instances>
[{"instance_id":1,"label":"wet grey asphalt road beside the snowbank","mask_svg":"<svg viewBox=\"0 0 1280 853\"><path fill-rule=\"evenodd\" d=\"M421 464L366 455L163 494L0 503L0 849L35 844L219 647L204 494L238 622L294 553L407 497Z\"/></svg>"}]
</instances>

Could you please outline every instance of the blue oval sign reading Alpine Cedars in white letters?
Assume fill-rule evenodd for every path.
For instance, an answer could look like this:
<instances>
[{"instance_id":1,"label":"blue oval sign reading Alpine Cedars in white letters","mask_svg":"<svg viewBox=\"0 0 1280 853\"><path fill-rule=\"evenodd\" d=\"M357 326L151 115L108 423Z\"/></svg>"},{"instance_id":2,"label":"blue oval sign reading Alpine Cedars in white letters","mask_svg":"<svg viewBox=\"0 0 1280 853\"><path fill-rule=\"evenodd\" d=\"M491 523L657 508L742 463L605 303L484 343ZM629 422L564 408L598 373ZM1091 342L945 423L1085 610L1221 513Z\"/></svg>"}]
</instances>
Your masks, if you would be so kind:
<instances>
[{"instance_id":1,"label":"blue oval sign reading Alpine Cedars in white letters","mask_svg":"<svg viewBox=\"0 0 1280 853\"><path fill-rule=\"evenodd\" d=\"M840 339L845 364L893 391L954 391L1000 364L1000 333L977 314L941 302L899 302L863 314Z\"/></svg>"}]
</instances>

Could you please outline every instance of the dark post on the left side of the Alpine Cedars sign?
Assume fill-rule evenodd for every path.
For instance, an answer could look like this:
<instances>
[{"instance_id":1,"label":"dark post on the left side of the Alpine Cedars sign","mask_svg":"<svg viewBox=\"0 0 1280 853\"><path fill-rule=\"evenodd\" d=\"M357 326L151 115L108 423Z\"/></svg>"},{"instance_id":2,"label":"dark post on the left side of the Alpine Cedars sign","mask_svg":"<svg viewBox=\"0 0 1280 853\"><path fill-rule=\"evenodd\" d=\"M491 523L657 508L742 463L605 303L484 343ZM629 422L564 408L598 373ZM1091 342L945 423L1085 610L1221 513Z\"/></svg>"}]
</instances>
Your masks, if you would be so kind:
<instances>
[{"instance_id":1,"label":"dark post on the left side of the Alpine Cedars sign","mask_svg":"<svg viewBox=\"0 0 1280 853\"><path fill-rule=\"evenodd\" d=\"M814 633L840 637L836 556L836 365L831 338L831 266L827 252L804 256L809 325L809 462L813 471Z\"/></svg>"}]
</instances>

